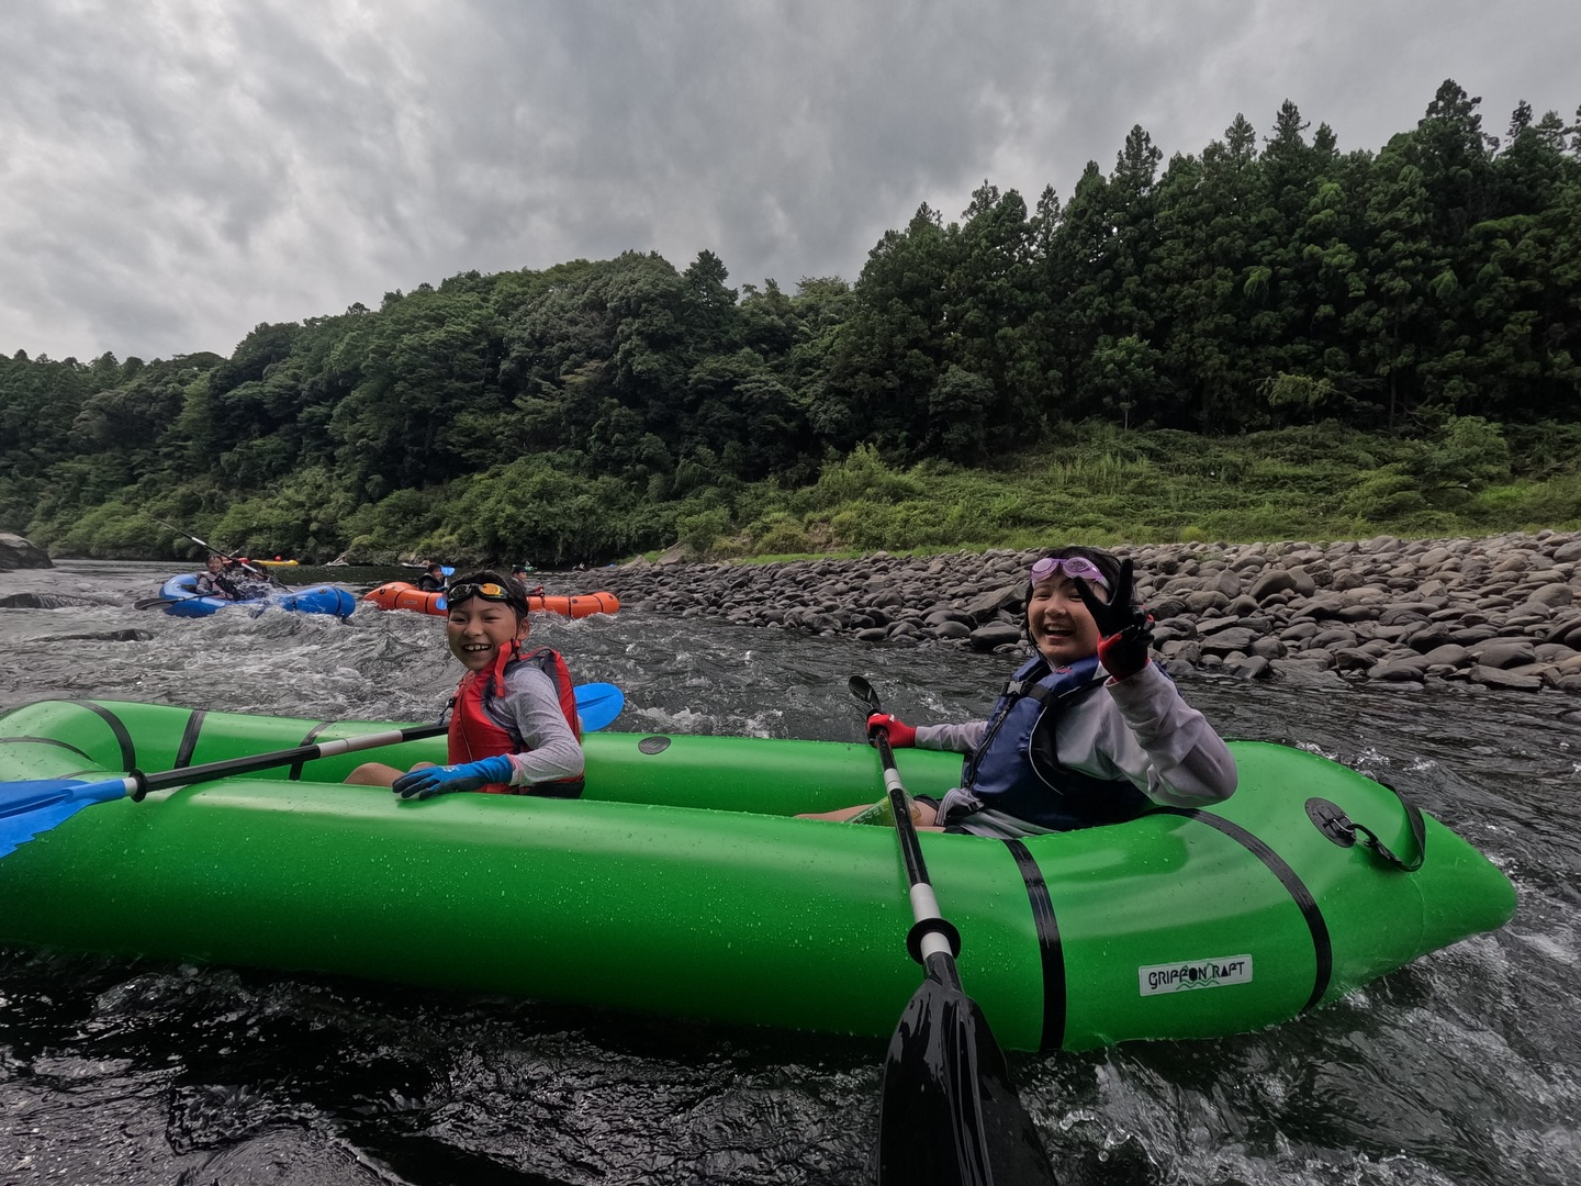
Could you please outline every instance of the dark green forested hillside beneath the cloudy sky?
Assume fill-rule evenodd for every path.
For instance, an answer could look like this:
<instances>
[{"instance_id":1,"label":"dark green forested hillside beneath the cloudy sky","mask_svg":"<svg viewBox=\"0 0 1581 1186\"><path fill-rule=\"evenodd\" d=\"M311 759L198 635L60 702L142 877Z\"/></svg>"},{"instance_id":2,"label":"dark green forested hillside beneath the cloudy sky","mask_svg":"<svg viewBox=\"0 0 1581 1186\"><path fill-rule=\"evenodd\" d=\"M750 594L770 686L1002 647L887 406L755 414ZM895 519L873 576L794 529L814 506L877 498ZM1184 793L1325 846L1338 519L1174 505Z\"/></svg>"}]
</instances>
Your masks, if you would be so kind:
<instances>
[{"instance_id":1,"label":"dark green forested hillside beneath the cloudy sky","mask_svg":"<svg viewBox=\"0 0 1581 1186\"><path fill-rule=\"evenodd\" d=\"M958 221L923 206L854 283L730 288L710 251L685 270L629 251L261 324L229 359L17 351L0 527L76 555L166 549L158 516L318 558L564 565L678 536L926 542L874 525L928 476L1024 476L1061 441L1167 470L1225 436L1300 454L1364 433L1374 501L1330 508L1358 522L1573 478L1581 111L1521 104L1492 136L1478 103L1445 82L1375 152L1290 103L1167 164L1137 127L1066 199L985 182ZM999 527L1064 522L1021 512ZM971 516L952 530L974 539Z\"/></svg>"}]
</instances>

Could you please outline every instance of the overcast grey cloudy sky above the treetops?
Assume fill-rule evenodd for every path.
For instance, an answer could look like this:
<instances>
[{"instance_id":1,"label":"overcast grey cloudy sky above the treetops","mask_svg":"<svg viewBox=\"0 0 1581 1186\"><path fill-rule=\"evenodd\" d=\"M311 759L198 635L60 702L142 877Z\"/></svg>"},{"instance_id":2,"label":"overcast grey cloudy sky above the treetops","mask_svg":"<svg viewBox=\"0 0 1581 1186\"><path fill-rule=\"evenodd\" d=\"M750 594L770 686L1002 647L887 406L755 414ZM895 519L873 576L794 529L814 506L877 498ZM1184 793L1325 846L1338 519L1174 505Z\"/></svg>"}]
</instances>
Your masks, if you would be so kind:
<instances>
[{"instance_id":1,"label":"overcast grey cloudy sky above the treetops","mask_svg":"<svg viewBox=\"0 0 1581 1186\"><path fill-rule=\"evenodd\" d=\"M0 351L229 354L477 269L854 280L1282 100L1379 149L1456 79L1575 119L1576 0L0 0Z\"/></svg>"}]
</instances>

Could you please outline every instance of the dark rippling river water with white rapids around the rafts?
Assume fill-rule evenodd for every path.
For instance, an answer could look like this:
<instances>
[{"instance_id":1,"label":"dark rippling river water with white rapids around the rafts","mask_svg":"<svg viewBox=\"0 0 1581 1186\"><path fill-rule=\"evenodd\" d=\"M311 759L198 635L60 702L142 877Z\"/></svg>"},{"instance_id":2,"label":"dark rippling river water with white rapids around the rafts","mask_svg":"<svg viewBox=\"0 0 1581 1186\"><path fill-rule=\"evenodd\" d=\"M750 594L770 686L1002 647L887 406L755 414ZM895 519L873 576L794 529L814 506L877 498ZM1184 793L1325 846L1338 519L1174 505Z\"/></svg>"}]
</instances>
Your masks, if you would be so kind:
<instances>
[{"instance_id":1,"label":"dark rippling river water with white rapids around the rafts","mask_svg":"<svg viewBox=\"0 0 1581 1186\"><path fill-rule=\"evenodd\" d=\"M169 571L0 572L0 596L93 602L0 609L0 708L114 697L430 720L457 678L438 620L417 614L134 609ZM591 591L598 574L549 585ZM855 740L852 672L901 716L942 721L985 713L1009 667L636 612L539 615L534 637L579 682L624 689L626 731ZM1393 783L1497 862L1519 908L1496 935L1260 1033L1012 1055L1061 1181L1581 1181L1581 697L1190 675L1183 688L1227 737ZM870 1039L0 950L0 1186L846 1186L871 1180L882 1058Z\"/></svg>"}]
</instances>

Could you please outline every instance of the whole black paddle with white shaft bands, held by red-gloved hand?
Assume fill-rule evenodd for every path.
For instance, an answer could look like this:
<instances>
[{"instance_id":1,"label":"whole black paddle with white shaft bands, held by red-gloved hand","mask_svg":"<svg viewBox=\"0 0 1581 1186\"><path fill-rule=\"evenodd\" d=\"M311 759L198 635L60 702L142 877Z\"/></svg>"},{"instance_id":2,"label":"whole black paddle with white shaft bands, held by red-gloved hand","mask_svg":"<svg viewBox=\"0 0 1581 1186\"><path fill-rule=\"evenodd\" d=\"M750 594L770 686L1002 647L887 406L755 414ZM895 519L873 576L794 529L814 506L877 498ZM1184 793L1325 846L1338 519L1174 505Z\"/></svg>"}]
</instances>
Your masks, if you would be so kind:
<instances>
[{"instance_id":1,"label":"whole black paddle with white shaft bands, held by red-gloved hand","mask_svg":"<svg viewBox=\"0 0 1581 1186\"><path fill-rule=\"evenodd\" d=\"M882 712L865 678L852 675L849 688L870 713ZM1010 1083L1004 1052L982 1009L961 988L955 968L961 936L939 912L889 734L876 729L873 740L911 884L915 925L906 946L926 971L890 1037L884 1064L879 1184L1053 1186L1055 1169Z\"/></svg>"}]
</instances>

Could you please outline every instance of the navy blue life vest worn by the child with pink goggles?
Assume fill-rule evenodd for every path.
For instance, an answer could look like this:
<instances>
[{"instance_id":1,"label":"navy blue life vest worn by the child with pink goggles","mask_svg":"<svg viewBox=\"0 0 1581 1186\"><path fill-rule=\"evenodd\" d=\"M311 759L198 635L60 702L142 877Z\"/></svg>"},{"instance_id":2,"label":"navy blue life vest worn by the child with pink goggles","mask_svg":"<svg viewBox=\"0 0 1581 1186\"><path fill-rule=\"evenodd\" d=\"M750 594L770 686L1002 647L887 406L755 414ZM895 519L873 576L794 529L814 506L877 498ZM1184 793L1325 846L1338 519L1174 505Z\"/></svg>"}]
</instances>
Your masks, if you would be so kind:
<instances>
[{"instance_id":1,"label":"navy blue life vest worn by the child with pink goggles","mask_svg":"<svg viewBox=\"0 0 1581 1186\"><path fill-rule=\"evenodd\" d=\"M1055 726L1067 707L1104 686L1099 675L1097 656L1055 669L1042 656L1028 659L968 754L961 786L983 808L1055 832L1119 824L1148 811L1153 800L1129 778L1096 778L1059 762Z\"/></svg>"}]
</instances>

